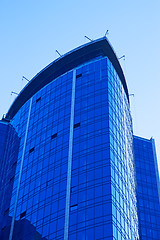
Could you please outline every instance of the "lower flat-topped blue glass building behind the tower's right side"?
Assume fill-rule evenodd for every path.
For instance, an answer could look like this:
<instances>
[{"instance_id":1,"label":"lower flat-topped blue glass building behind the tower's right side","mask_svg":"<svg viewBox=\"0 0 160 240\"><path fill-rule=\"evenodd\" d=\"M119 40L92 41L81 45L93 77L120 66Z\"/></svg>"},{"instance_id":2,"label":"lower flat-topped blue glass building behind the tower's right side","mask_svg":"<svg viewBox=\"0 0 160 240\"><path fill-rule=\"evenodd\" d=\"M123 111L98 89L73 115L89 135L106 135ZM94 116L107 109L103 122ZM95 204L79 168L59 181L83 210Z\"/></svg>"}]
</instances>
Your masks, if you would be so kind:
<instances>
[{"instance_id":1,"label":"lower flat-topped blue glass building behind the tower's right side","mask_svg":"<svg viewBox=\"0 0 160 240\"><path fill-rule=\"evenodd\" d=\"M142 240L160 239L159 174L155 143L134 136L139 233Z\"/></svg>"}]
</instances>

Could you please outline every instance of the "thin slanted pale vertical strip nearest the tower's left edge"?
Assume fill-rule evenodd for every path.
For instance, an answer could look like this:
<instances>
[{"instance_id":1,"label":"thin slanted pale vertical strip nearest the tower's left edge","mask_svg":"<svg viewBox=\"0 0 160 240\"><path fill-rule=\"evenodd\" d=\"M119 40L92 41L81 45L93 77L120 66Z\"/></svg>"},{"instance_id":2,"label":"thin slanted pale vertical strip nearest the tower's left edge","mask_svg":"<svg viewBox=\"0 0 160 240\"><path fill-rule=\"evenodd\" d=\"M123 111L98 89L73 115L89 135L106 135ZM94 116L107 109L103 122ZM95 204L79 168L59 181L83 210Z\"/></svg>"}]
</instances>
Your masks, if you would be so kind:
<instances>
[{"instance_id":1,"label":"thin slanted pale vertical strip nearest the tower's left edge","mask_svg":"<svg viewBox=\"0 0 160 240\"><path fill-rule=\"evenodd\" d=\"M25 155L25 149L26 149L29 121L30 121L30 115L31 115L31 108L32 108L32 98L30 99L30 105L29 105L29 111L28 111L28 119L27 119L27 125L26 125L26 131L25 131L25 137L24 137L24 143L23 143L22 158L21 158L21 163L20 163L18 185L17 185L17 191L16 191L16 198L15 198L15 204L14 204L14 210L13 210L9 240L12 240L12 237L13 237L13 229L14 229L14 222L15 222L15 217L16 217L18 195L19 195L20 182L21 182L21 176L22 176L22 169L23 169L24 155Z\"/></svg>"}]
</instances>

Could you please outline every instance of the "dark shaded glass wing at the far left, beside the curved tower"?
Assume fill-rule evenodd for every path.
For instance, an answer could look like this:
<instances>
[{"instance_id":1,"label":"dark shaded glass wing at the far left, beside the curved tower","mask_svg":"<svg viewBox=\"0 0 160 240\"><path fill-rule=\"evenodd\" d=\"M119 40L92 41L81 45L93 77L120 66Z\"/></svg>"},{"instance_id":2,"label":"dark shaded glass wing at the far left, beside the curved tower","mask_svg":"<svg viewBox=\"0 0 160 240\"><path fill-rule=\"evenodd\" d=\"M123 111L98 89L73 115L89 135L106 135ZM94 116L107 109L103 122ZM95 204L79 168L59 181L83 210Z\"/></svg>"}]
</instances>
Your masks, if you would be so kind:
<instances>
[{"instance_id":1,"label":"dark shaded glass wing at the far left, beside the curved tower","mask_svg":"<svg viewBox=\"0 0 160 240\"><path fill-rule=\"evenodd\" d=\"M0 229L9 234L7 226L11 223L9 215L10 201L17 164L19 137L6 121L0 121ZM7 230L7 231L6 231ZM0 239L3 231L0 232ZM8 236L8 235L7 235Z\"/></svg>"}]
</instances>

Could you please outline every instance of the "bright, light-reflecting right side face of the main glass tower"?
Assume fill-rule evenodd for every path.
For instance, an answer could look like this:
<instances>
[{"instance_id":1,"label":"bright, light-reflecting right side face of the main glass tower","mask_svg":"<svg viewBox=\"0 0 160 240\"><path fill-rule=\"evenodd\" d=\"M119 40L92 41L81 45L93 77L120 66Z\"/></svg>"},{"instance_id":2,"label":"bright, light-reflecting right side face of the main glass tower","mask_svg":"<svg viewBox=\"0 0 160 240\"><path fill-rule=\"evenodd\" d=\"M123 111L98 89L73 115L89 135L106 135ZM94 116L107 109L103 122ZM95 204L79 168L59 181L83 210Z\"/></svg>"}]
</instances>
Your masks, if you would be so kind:
<instances>
[{"instance_id":1,"label":"bright, light-reflecting right side face of the main glass tower","mask_svg":"<svg viewBox=\"0 0 160 240\"><path fill-rule=\"evenodd\" d=\"M112 217L114 239L138 239L132 119L127 97L108 62Z\"/></svg>"}]
</instances>

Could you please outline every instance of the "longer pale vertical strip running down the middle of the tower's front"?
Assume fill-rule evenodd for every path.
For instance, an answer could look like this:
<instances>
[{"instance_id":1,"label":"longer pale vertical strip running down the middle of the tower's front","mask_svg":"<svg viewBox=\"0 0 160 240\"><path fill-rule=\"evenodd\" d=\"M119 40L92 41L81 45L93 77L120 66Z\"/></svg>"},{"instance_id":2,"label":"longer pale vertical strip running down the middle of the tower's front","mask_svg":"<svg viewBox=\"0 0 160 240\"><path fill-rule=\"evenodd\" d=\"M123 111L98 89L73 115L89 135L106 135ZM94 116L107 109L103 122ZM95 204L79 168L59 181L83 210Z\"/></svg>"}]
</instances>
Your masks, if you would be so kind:
<instances>
[{"instance_id":1,"label":"longer pale vertical strip running down the middle of the tower's front","mask_svg":"<svg viewBox=\"0 0 160 240\"><path fill-rule=\"evenodd\" d=\"M65 222L64 222L64 240L68 240L68 231L69 231L69 209L70 209L70 193L71 193L75 88L76 88L76 70L74 69L73 70L73 80L72 80L72 99L71 99L70 133L69 133L69 150L68 150L68 171L67 171L66 208L65 208Z\"/></svg>"}]
</instances>

